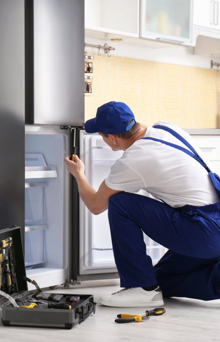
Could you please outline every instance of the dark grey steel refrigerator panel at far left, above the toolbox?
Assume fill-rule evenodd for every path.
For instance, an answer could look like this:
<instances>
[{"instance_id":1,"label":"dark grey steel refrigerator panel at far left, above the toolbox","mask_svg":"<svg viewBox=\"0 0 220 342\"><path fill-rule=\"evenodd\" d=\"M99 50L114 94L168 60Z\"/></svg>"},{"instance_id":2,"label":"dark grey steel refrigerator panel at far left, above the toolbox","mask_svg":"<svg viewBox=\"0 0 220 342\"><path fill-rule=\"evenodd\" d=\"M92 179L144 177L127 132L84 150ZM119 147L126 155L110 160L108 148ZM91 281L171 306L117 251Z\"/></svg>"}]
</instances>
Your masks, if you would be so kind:
<instances>
[{"instance_id":1,"label":"dark grey steel refrigerator panel at far left, above the toolbox","mask_svg":"<svg viewBox=\"0 0 220 342\"><path fill-rule=\"evenodd\" d=\"M25 6L0 0L0 229L20 226L25 189Z\"/></svg>"}]
</instances>

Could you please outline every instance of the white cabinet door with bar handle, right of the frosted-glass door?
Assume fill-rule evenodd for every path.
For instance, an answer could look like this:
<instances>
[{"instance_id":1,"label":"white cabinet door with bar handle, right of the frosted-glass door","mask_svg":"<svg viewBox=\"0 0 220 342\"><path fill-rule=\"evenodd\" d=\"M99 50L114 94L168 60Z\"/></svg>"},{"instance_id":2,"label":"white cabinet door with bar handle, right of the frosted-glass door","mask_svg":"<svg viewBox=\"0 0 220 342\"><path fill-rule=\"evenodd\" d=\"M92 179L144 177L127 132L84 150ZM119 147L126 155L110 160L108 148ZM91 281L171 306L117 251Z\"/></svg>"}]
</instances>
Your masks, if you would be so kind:
<instances>
[{"instance_id":1,"label":"white cabinet door with bar handle, right of the frosted-glass door","mask_svg":"<svg viewBox=\"0 0 220 342\"><path fill-rule=\"evenodd\" d=\"M216 22L217 4L213 0L194 0L193 2L193 25L214 28Z\"/></svg>"}]
</instances>

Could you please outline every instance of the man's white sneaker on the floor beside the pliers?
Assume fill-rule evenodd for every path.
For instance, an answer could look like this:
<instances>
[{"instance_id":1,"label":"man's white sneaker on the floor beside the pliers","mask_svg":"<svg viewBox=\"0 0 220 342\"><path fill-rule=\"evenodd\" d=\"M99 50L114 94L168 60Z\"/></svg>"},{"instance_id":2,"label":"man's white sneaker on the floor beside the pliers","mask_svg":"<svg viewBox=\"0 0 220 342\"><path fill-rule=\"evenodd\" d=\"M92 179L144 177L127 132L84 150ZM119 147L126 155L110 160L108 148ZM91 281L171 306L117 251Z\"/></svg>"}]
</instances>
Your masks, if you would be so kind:
<instances>
[{"instance_id":1,"label":"man's white sneaker on the floor beside the pliers","mask_svg":"<svg viewBox=\"0 0 220 342\"><path fill-rule=\"evenodd\" d=\"M163 306L163 296L158 286L153 291L145 291L142 287L123 288L110 296L100 297L99 303L114 307L159 307Z\"/></svg>"}]
</instances>

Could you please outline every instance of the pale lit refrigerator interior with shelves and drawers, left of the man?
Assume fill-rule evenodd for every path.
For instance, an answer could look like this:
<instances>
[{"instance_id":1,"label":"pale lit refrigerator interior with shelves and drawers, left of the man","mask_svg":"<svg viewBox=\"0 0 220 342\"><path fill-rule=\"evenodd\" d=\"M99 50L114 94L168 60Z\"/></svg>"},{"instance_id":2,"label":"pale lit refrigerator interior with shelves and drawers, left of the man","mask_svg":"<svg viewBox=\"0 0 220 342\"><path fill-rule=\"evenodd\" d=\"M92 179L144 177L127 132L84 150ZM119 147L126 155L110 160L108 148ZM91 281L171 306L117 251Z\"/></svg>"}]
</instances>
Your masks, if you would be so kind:
<instances>
[{"instance_id":1,"label":"pale lit refrigerator interior with shelves and drawers, left of the man","mask_svg":"<svg viewBox=\"0 0 220 342\"><path fill-rule=\"evenodd\" d=\"M25 266L40 287L69 279L67 151L68 136L59 127L26 126Z\"/></svg>"}]
</instances>

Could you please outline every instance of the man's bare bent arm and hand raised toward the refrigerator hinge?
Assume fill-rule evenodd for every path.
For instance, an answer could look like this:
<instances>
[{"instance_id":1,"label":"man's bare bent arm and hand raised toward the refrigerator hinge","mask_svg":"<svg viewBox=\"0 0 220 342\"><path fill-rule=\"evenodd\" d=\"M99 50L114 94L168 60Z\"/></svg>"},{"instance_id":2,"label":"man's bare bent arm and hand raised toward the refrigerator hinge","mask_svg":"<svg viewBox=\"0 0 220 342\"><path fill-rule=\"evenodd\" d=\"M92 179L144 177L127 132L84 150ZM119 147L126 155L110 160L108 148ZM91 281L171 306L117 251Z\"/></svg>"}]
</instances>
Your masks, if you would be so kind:
<instances>
[{"instance_id":1,"label":"man's bare bent arm and hand raised toward the refrigerator hinge","mask_svg":"<svg viewBox=\"0 0 220 342\"><path fill-rule=\"evenodd\" d=\"M74 161L65 158L67 169L76 178L81 199L94 215L100 214L108 208L109 198L119 190L110 189L103 181L97 191L89 184L85 174L85 166L78 156Z\"/></svg>"}]
</instances>

